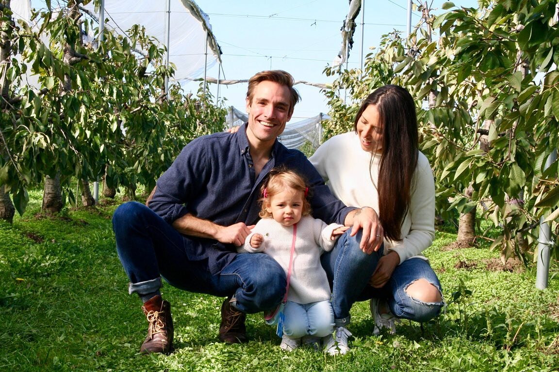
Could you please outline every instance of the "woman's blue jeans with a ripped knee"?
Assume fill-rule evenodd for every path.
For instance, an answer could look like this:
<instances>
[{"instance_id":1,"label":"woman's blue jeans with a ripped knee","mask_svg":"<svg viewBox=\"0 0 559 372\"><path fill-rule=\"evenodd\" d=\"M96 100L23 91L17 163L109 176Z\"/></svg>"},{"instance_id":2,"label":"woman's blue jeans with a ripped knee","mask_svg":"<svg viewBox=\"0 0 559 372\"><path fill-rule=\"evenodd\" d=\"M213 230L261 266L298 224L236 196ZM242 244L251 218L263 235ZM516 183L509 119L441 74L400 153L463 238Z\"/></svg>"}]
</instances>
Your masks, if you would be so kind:
<instances>
[{"instance_id":1,"label":"woman's blue jeans with a ripped knee","mask_svg":"<svg viewBox=\"0 0 559 372\"><path fill-rule=\"evenodd\" d=\"M321 257L332 289L331 301L337 327L349 323L349 310L353 303L373 297L386 298L390 310L398 318L423 322L438 315L444 302L420 302L405 292L411 283L420 278L441 291L439 279L427 261L408 259L396 267L383 288L373 288L368 281L382 257L383 247L370 255L363 253L359 249L361 231L356 236L350 236L350 231L340 236L334 249Z\"/></svg>"}]
</instances>

